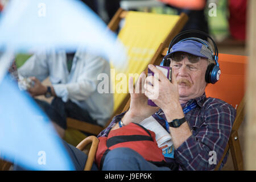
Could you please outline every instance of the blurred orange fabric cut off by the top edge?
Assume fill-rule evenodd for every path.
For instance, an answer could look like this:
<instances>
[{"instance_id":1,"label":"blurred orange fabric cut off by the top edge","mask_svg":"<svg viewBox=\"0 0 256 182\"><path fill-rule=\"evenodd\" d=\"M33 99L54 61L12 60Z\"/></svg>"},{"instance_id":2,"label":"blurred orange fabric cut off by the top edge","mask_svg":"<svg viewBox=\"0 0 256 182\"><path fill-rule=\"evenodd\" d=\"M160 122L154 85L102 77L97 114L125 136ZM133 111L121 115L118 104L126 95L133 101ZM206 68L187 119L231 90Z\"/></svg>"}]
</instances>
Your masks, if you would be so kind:
<instances>
[{"instance_id":1,"label":"blurred orange fabric cut off by the top edge","mask_svg":"<svg viewBox=\"0 0 256 182\"><path fill-rule=\"evenodd\" d=\"M205 0L159 0L168 5L189 10L203 10L205 6Z\"/></svg>"}]
</instances>

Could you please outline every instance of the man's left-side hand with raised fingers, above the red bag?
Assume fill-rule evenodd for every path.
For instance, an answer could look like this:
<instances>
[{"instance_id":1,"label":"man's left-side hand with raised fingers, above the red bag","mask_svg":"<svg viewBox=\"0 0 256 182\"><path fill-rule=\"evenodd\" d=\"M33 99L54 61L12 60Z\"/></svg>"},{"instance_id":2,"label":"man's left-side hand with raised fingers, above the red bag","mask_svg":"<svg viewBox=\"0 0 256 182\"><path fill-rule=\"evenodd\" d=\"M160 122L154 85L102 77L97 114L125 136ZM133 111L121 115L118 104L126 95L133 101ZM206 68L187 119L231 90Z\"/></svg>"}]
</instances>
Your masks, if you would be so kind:
<instances>
[{"instance_id":1,"label":"man's left-side hand with raised fingers, above the red bag","mask_svg":"<svg viewBox=\"0 0 256 182\"><path fill-rule=\"evenodd\" d=\"M129 93L131 96L131 102L129 110L122 119L123 124L125 125L128 125L130 122L139 123L159 110L159 107L147 105L147 97L144 95L143 88L145 79L146 74L142 72L137 83L135 84L134 89L133 77L129 78Z\"/></svg>"}]
</instances>

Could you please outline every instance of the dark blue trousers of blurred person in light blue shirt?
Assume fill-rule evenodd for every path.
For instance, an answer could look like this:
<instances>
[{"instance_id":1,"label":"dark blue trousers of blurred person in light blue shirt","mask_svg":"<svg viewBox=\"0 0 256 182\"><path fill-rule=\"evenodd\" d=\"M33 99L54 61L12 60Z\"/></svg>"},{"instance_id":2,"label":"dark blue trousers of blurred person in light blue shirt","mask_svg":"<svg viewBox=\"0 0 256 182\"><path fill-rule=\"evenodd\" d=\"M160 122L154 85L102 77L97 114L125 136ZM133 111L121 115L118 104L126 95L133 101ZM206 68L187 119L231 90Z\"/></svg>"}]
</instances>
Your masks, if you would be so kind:
<instances>
[{"instance_id":1,"label":"dark blue trousers of blurred person in light blue shirt","mask_svg":"<svg viewBox=\"0 0 256 182\"><path fill-rule=\"evenodd\" d=\"M98 125L97 121L90 117L88 111L82 109L80 106L70 100L63 102L61 98L55 97L53 98L51 104L38 99L35 99L35 101L48 115L51 121L55 122L63 129L67 129L67 117L89 122L93 125Z\"/></svg>"}]
</instances>

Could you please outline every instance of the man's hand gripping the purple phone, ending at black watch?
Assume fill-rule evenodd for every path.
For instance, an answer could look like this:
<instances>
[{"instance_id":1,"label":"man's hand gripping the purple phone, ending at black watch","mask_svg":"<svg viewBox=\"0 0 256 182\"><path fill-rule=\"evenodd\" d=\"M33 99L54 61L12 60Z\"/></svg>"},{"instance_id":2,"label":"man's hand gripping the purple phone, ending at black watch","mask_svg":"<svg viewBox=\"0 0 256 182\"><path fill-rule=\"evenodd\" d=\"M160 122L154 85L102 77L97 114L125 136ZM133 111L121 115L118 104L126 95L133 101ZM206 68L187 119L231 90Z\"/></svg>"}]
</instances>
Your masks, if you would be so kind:
<instances>
[{"instance_id":1,"label":"man's hand gripping the purple phone, ending at black watch","mask_svg":"<svg viewBox=\"0 0 256 182\"><path fill-rule=\"evenodd\" d=\"M145 96L154 101L164 111L164 114L171 115L172 119L183 118L184 114L179 102L178 84L174 72L172 72L172 82L170 82L154 65L148 65L148 68L155 75L148 76L144 82Z\"/></svg>"}]
</instances>

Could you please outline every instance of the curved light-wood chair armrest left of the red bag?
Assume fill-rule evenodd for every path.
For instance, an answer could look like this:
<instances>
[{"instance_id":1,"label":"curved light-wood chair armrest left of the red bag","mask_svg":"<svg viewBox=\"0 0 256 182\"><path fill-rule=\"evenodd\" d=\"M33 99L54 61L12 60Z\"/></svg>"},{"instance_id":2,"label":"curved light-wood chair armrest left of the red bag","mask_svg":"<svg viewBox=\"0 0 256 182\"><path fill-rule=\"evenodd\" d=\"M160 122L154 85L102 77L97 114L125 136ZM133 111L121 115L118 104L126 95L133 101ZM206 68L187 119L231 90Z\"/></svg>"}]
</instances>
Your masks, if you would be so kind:
<instances>
[{"instance_id":1,"label":"curved light-wood chair armrest left of the red bag","mask_svg":"<svg viewBox=\"0 0 256 182\"><path fill-rule=\"evenodd\" d=\"M82 151L89 143L92 143L92 146L90 147L90 150L89 150L88 158L86 160L84 171L90 171L90 169L92 168L93 161L94 161L96 151L98 148L98 142L99 142L99 140L97 137L89 136L89 137L86 137L84 140L82 140L76 146L76 148L78 148L79 150Z\"/></svg>"}]
</instances>

